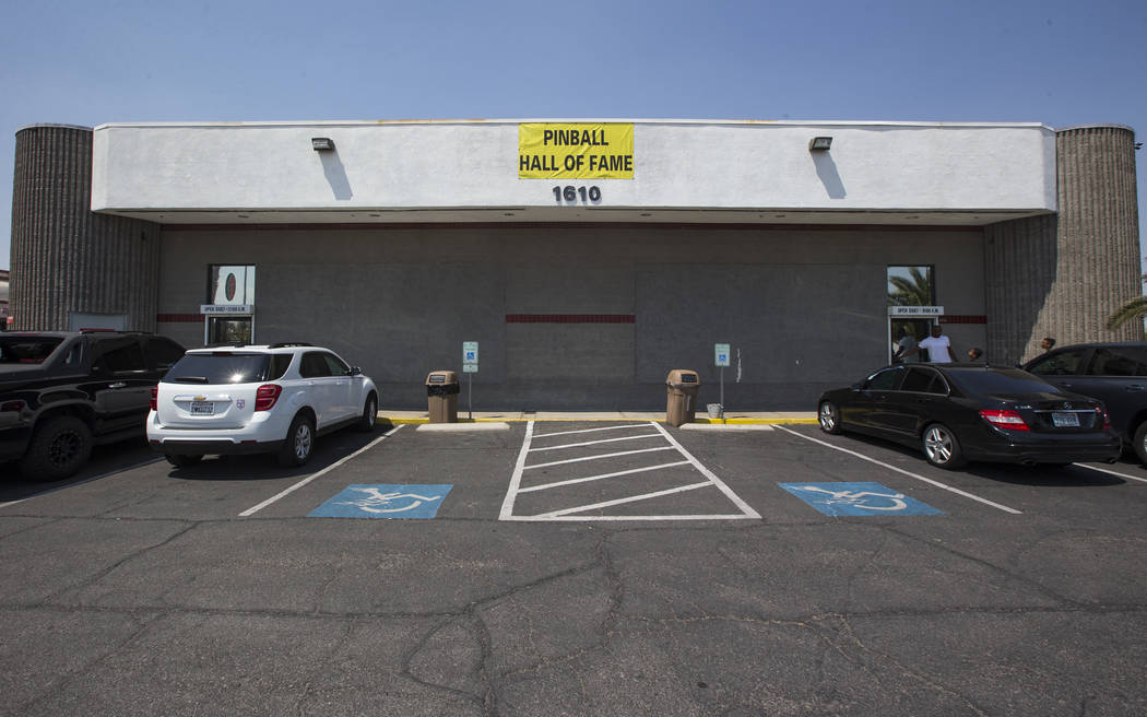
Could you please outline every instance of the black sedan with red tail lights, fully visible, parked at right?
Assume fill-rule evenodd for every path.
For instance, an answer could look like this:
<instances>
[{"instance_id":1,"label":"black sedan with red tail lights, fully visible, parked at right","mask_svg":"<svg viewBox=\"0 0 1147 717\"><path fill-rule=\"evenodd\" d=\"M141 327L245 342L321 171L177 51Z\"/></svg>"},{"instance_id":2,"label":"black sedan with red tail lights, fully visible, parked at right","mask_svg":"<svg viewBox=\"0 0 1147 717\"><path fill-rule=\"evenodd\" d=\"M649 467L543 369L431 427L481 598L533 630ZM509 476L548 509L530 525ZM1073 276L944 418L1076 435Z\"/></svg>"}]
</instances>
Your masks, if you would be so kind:
<instances>
[{"instance_id":1,"label":"black sedan with red tail lights, fully visible, parked at right","mask_svg":"<svg viewBox=\"0 0 1147 717\"><path fill-rule=\"evenodd\" d=\"M1019 368L921 364L882 368L818 408L829 434L856 431L923 449L928 462L1032 466L1114 462L1119 436L1103 404Z\"/></svg>"}]
</instances>

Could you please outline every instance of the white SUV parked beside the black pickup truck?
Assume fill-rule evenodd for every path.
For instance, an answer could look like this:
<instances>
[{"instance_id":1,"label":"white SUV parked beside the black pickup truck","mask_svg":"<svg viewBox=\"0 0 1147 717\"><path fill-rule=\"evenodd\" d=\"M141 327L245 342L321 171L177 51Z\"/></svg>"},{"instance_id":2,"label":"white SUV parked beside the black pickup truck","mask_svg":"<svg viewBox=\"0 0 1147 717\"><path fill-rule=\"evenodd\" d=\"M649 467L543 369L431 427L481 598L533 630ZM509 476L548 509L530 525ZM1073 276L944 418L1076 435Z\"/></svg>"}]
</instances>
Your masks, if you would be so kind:
<instances>
[{"instance_id":1,"label":"white SUV parked beside the black pickup truck","mask_svg":"<svg viewBox=\"0 0 1147 717\"><path fill-rule=\"evenodd\" d=\"M174 466L205 453L311 458L314 437L374 429L379 391L358 367L310 344L194 349L151 389L147 437Z\"/></svg>"}]
</instances>

